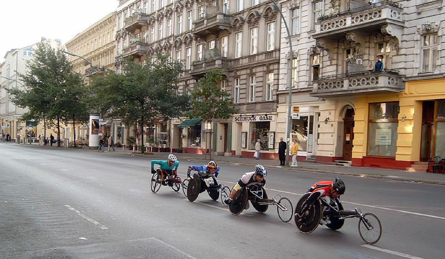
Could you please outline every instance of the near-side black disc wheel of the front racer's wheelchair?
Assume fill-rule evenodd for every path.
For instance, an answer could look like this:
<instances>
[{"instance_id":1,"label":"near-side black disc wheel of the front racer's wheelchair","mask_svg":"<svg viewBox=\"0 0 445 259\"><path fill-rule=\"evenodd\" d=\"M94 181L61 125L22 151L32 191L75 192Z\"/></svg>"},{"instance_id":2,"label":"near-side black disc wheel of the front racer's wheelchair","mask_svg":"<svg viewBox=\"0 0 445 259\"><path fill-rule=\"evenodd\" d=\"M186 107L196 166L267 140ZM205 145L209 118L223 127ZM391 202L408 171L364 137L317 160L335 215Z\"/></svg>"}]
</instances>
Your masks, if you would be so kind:
<instances>
[{"instance_id":1,"label":"near-side black disc wheel of the front racer's wheelchair","mask_svg":"<svg viewBox=\"0 0 445 259\"><path fill-rule=\"evenodd\" d=\"M321 205L317 200L309 206L309 209L303 215L300 221L298 221L297 212L300 211L303 202L311 195L311 193L306 193L301 197L298 201L297 206L295 207L295 224L297 224L298 230L301 233L309 234L317 229L318 223L320 223L321 219Z\"/></svg>"}]
</instances>

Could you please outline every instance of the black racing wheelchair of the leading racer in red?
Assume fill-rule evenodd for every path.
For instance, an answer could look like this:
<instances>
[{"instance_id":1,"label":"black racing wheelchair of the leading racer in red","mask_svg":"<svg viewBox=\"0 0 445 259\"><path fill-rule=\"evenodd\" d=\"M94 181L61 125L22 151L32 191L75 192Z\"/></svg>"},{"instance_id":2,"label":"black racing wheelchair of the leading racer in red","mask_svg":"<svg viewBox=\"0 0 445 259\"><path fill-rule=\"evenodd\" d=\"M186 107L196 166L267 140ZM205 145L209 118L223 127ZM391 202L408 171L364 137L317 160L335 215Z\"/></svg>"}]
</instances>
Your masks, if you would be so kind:
<instances>
[{"instance_id":1,"label":"black racing wheelchair of the leading racer in red","mask_svg":"<svg viewBox=\"0 0 445 259\"><path fill-rule=\"evenodd\" d=\"M306 193L297 203L295 211L300 211L303 202L311 195ZM340 199L332 199L329 196L320 197L302 215L300 221L295 214L295 223L301 233L309 234L317 229L318 225L326 225L332 230L338 230L343 226L346 218L359 218L359 234L367 244L376 244L381 238L381 223L373 213L362 213L358 208L343 210Z\"/></svg>"}]
</instances>

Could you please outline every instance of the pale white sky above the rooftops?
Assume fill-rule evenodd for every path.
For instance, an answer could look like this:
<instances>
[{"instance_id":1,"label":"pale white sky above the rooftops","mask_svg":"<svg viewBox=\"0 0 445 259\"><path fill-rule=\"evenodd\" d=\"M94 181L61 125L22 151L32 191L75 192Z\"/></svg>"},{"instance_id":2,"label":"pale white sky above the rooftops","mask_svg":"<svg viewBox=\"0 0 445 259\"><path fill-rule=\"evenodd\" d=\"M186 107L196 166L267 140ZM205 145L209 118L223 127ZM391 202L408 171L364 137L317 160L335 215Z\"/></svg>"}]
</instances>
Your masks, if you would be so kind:
<instances>
[{"instance_id":1,"label":"pale white sky above the rooftops","mask_svg":"<svg viewBox=\"0 0 445 259\"><path fill-rule=\"evenodd\" d=\"M47 39L71 40L107 14L118 0L0 0L0 64L11 49Z\"/></svg>"}]
</instances>

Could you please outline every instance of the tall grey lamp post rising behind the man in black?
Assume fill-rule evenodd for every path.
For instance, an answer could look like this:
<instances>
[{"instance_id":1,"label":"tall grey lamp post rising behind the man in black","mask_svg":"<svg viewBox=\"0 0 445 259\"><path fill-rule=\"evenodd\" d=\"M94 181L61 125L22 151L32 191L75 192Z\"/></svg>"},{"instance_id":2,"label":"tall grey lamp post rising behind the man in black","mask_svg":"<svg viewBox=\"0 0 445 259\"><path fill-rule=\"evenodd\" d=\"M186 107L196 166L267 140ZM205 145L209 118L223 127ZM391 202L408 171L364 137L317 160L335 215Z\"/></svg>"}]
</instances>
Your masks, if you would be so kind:
<instances>
[{"instance_id":1,"label":"tall grey lamp post rising behind the man in black","mask_svg":"<svg viewBox=\"0 0 445 259\"><path fill-rule=\"evenodd\" d=\"M276 3L276 1L272 0L272 2L275 4L278 11L280 12L281 19L283 20L284 26L286 27L287 39L289 41L289 49L290 49L290 59L289 59L289 65L288 65L289 80L287 80L287 87L289 88L289 107L287 108L287 133L286 133L287 134L286 135L286 141L287 141L286 165L289 166L290 134L291 134L291 126L292 126L292 113L291 113L291 108L292 108L292 65L293 65L292 63L294 61L294 52L292 50L292 39L291 39L291 34L289 32L289 27L287 26L286 19L284 18L283 13L281 12L281 8L278 7L278 4Z\"/></svg>"}]
</instances>

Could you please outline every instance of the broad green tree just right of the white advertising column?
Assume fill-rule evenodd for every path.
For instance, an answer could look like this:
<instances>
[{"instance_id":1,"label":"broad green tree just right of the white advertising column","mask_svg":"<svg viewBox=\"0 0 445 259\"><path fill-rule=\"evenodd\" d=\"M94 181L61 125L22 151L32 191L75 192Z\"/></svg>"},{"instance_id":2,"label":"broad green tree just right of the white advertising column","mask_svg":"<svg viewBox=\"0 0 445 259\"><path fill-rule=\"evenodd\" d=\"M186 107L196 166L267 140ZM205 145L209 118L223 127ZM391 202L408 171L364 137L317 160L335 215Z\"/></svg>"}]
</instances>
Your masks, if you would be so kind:
<instances>
[{"instance_id":1,"label":"broad green tree just right of the white advertising column","mask_svg":"<svg viewBox=\"0 0 445 259\"><path fill-rule=\"evenodd\" d=\"M177 78L182 71L181 62L170 61L160 53L146 65L126 60L122 74L107 71L94 79L94 101L104 114L140 129L143 146L148 121L180 117L188 109L188 97L177 94Z\"/></svg>"}]
</instances>

